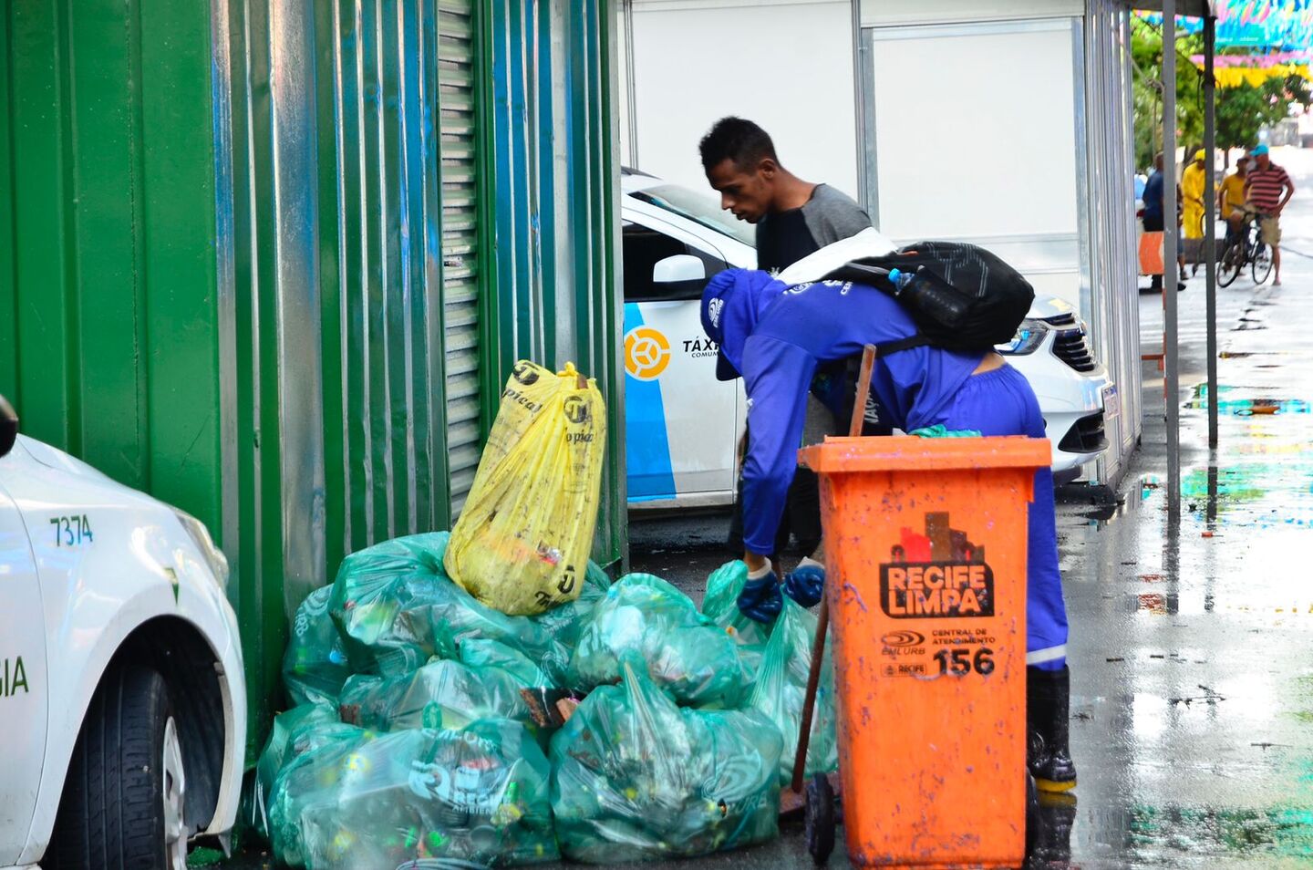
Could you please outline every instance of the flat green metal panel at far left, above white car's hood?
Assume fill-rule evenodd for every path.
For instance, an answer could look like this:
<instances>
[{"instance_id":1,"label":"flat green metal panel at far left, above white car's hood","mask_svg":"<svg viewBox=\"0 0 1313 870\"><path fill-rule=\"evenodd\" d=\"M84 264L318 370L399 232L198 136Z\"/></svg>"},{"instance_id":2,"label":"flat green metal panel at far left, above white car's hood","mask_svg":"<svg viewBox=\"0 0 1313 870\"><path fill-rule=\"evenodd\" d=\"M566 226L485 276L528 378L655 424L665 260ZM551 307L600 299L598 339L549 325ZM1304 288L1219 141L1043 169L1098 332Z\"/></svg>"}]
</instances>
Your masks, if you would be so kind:
<instances>
[{"instance_id":1,"label":"flat green metal panel at far left, above white car's hood","mask_svg":"<svg viewBox=\"0 0 1313 870\"><path fill-rule=\"evenodd\" d=\"M204 7L0 7L0 393L217 528L209 64Z\"/></svg>"}]
</instances>

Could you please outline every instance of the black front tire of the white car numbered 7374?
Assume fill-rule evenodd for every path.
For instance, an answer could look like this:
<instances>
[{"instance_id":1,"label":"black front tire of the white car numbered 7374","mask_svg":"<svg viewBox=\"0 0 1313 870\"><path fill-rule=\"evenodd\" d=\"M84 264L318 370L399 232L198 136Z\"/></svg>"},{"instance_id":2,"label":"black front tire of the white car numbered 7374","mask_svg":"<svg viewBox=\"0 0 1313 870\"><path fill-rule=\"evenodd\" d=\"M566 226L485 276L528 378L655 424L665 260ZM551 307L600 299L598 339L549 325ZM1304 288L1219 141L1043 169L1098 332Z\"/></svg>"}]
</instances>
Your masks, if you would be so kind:
<instances>
[{"instance_id":1,"label":"black front tire of the white car numbered 7374","mask_svg":"<svg viewBox=\"0 0 1313 870\"><path fill-rule=\"evenodd\" d=\"M55 829L50 870L186 866L185 778L164 678L151 668L113 668L87 710Z\"/></svg>"}]
</instances>

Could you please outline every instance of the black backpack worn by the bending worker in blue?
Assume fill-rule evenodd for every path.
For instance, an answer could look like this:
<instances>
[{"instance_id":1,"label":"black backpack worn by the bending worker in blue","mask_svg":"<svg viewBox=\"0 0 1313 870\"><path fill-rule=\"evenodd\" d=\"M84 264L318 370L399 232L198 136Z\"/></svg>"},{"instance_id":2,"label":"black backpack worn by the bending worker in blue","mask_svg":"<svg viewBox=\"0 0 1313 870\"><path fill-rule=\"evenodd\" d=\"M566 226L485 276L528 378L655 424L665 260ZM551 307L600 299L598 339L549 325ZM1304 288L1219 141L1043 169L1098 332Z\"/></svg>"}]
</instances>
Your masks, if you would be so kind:
<instances>
[{"instance_id":1,"label":"black backpack worn by the bending worker in blue","mask_svg":"<svg viewBox=\"0 0 1313 870\"><path fill-rule=\"evenodd\" d=\"M890 281L898 269L902 280ZM910 276L910 277L909 277ZM852 260L826 279L872 285L902 304L918 334L877 346L881 356L910 347L990 351L1016 336L1035 288L1020 272L974 244L918 242L885 256Z\"/></svg>"}]
</instances>

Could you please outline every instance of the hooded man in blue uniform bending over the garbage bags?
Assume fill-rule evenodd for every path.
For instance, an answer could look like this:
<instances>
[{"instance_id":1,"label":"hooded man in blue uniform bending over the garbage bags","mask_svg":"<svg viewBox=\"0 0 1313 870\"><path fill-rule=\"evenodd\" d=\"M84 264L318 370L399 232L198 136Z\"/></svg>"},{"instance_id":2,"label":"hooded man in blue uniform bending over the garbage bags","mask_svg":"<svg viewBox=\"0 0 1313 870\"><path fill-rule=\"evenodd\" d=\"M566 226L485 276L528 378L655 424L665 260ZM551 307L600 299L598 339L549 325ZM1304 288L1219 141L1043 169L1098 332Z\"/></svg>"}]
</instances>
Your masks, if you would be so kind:
<instances>
[{"instance_id":1,"label":"hooded man in blue uniform bending over the garbage bags","mask_svg":"<svg viewBox=\"0 0 1313 870\"><path fill-rule=\"evenodd\" d=\"M748 584L739 607L769 620L780 585L767 555L775 544L789 481L797 468L807 393L818 367L860 356L867 344L918 335L913 318L884 292L850 281L788 286L771 275L729 269L702 293L702 329L720 344L716 375L743 377L752 438L743 465L743 561ZM1044 438L1044 419L1025 377L993 351L919 346L876 359L871 390L886 422L905 432L943 424L982 435ZM844 415L842 392L818 397ZM851 397L847 402L851 405ZM1075 786L1067 749L1067 620L1058 574L1053 474L1035 474L1027 576L1027 719L1031 770L1046 791ZM810 606L806 584L784 590Z\"/></svg>"}]
</instances>

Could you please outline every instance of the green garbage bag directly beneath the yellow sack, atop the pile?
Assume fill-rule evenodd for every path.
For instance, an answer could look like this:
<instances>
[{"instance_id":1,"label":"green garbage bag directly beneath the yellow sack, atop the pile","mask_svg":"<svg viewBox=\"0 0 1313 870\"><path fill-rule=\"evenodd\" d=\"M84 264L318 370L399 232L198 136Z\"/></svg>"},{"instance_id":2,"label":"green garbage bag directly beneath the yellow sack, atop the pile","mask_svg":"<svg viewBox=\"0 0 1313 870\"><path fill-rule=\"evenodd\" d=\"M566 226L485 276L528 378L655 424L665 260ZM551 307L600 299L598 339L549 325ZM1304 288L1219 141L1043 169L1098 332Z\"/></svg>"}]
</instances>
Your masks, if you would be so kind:
<instances>
[{"instance_id":1,"label":"green garbage bag directly beneath the yellow sack, atop the pile","mask_svg":"<svg viewBox=\"0 0 1313 870\"><path fill-rule=\"evenodd\" d=\"M397 538L348 556L337 570L330 612L355 673L397 677L433 656L457 658L471 637L496 640L565 678L570 648L605 574L590 564L579 598L537 616L507 616L475 601L442 572L448 534Z\"/></svg>"}]
</instances>

